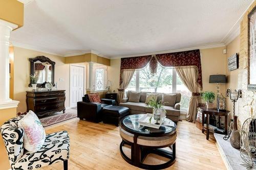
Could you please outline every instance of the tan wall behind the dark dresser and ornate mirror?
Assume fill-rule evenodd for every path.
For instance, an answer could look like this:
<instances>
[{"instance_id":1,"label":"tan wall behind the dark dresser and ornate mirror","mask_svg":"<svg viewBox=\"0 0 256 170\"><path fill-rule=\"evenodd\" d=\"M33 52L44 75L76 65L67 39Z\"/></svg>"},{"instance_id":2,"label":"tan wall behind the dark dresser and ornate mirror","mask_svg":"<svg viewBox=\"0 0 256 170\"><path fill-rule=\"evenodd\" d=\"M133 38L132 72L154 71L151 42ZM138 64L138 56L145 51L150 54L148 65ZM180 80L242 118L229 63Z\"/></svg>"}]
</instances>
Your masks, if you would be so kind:
<instances>
[{"instance_id":1,"label":"tan wall behind the dark dresser and ornate mirror","mask_svg":"<svg viewBox=\"0 0 256 170\"><path fill-rule=\"evenodd\" d=\"M69 106L69 64L65 64L65 58L51 55L47 53L28 50L25 48L14 46L14 100L19 101L17 108L18 112L26 111L26 91L30 90L28 87L30 76L30 62L29 58L36 56L46 56L55 64L55 82L58 83L58 89L66 90L65 106ZM59 82L62 78L63 82Z\"/></svg>"}]
</instances>

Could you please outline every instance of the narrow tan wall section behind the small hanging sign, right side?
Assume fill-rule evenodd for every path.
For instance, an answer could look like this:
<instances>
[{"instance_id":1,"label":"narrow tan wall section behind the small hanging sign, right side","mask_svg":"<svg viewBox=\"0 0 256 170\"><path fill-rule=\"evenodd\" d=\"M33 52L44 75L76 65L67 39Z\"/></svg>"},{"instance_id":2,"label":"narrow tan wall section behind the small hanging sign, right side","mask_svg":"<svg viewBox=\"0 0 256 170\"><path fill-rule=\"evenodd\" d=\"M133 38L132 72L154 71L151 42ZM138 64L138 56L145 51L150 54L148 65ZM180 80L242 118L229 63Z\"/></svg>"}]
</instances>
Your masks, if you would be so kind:
<instances>
[{"instance_id":1,"label":"narrow tan wall section behind the small hanging sign, right side","mask_svg":"<svg viewBox=\"0 0 256 170\"><path fill-rule=\"evenodd\" d=\"M227 45L227 54L226 54L226 75L227 75L227 83L226 83L226 89L237 89L238 90L238 69L229 71L228 70L228 58L238 53L239 55L239 46L240 46L240 36L236 37L233 41L231 41ZM240 66L239 66L240 67ZM236 105L238 106L238 105ZM231 114L229 114L229 117L232 118L233 116L233 103L230 101L229 98L227 98L227 110L231 111Z\"/></svg>"}]
</instances>

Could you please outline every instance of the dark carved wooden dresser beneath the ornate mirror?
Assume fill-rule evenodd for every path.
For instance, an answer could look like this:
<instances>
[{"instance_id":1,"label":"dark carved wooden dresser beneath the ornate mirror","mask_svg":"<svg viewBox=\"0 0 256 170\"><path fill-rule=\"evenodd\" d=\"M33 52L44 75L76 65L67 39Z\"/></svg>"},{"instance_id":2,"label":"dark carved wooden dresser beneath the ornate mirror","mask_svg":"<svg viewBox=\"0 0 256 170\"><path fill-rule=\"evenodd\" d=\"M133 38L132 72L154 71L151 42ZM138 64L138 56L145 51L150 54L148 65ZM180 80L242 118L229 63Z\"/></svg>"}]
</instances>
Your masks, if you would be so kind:
<instances>
[{"instance_id":1,"label":"dark carved wooden dresser beneath the ornate mirror","mask_svg":"<svg viewBox=\"0 0 256 170\"><path fill-rule=\"evenodd\" d=\"M65 113L65 90L27 91L27 111L37 116L47 116L55 112Z\"/></svg>"}]
</instances>

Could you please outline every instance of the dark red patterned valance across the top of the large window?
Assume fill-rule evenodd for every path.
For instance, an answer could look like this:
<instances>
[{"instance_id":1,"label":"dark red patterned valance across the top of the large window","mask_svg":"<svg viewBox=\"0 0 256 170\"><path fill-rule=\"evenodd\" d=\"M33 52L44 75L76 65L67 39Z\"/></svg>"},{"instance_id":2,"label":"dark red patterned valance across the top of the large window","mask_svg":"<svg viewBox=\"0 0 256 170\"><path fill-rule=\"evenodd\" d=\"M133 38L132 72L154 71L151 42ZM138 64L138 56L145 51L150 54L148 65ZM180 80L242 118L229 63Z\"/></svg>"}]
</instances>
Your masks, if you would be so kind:
<instances>
[{"instance_id":1,"label":"dark red patterned valance across the top of the large window","mask_svg":"<svg viewBox=\"0 0 256 170\"><path fill-rule=\"evenodd\" d=\"M121 58L120 71L122 73L122 71L125 69L141 69L144 68L148 63L150 63L152 74L154 74L157 70L157 63L164 67L196 66L198 69L197 83L201 89L203 87L201 57L199 50L158 54L152 56ZM121 83L122 80L120 79L120 84Z\"/></svg>"}]
</instances>

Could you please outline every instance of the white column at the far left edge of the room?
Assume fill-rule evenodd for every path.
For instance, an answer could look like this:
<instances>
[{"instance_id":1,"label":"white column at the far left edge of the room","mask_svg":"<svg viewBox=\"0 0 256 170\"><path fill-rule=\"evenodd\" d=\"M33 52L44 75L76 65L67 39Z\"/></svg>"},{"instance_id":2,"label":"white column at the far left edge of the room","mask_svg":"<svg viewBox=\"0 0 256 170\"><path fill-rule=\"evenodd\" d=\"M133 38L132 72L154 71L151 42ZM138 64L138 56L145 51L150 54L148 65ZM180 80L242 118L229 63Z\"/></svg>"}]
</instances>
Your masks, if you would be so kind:
<instances>
[{"instance_id":1,"label":"white column at the far left edge of the room","mask_svg":"<svg viewBox=\"0 0 256 170\"><path fill-rule=\"evenodd\" d=\"M0 19L0 108L10 105L9 38L17 25Z\"/></svg>"}]
</instances>

